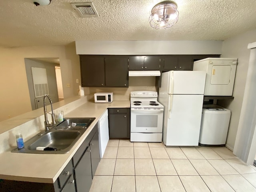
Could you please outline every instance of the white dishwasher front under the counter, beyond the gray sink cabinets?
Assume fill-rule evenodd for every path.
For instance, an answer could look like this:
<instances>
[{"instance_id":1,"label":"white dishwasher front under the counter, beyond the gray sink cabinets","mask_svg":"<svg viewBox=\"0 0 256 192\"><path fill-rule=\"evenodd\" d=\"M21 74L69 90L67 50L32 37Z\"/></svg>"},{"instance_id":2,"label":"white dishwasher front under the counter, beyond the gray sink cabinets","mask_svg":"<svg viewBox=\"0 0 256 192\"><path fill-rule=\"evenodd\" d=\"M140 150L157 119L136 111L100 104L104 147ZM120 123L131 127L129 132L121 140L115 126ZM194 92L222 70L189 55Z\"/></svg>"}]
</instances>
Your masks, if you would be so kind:
<instances>
[{"instance_id":1,"label":"white dishwasher front under the counter, beyond the gray sink cabinets","mask_svg":"<svg viewBox=\"0 0 256 192\"><path fill-rule=\"evenodd\" d=\"M109 134L108 134L108 110L104 112L100 118L99 126L99 142L100 142L100 158L103 157L108 144Z\"/></svg>"}]
</instances>

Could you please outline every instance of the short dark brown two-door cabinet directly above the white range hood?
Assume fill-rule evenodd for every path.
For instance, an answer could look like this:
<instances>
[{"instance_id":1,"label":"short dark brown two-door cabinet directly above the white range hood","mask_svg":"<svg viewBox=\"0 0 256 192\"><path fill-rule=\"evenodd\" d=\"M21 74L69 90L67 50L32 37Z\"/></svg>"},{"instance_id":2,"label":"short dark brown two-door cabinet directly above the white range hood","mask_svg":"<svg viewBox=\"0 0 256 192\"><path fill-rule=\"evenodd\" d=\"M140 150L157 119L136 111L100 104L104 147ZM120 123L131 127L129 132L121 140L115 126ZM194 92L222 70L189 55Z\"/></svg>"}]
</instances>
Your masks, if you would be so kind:
<instances>
[{"instance_id":1,"label":"short dark brown two-door cabinet directly above the white range hood","mask_svg":"<svg viewBox=\"0 0 256 192\"><path fill-rule=\"evenodd\" d=\"M160 57L129 56L129 70L160 70Z\"/></svg>"}]
</instances>

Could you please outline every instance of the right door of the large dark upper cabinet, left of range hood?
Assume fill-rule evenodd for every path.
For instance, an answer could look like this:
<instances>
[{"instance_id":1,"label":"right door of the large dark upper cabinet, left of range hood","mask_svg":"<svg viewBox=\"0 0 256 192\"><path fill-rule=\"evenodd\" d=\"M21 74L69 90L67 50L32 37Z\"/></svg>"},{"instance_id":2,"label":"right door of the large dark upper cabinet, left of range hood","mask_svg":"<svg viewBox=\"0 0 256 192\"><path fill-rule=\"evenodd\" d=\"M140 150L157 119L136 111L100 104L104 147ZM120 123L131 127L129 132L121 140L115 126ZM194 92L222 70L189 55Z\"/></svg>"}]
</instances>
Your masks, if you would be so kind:
<instances>
[{"instance_id":1,"label":"right door of the large dark upper cabinet, left of range hood","mask_svg":"<svg viewBox=\"0 0 256 192\"><path fill-rule=\"evenodd\" d=\"M106 86L128 87L128 58L105 58Z\"/></svg>"}]
</instances>

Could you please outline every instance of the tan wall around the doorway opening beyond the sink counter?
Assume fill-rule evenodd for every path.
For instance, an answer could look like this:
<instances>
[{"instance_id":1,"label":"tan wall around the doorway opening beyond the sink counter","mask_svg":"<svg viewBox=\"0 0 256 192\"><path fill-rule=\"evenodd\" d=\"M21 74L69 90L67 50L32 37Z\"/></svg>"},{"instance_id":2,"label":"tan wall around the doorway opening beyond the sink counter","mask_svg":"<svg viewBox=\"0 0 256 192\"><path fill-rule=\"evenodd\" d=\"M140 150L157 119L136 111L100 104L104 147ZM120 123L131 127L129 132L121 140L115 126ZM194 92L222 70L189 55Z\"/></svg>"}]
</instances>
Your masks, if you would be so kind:
<instances>
[{"instance_id":1,"label":"tan wall around the doorway opening beyond the sink counter","mask_svg":"<svg viewBox=\"0 0 256 192\"><path fill-rule=\"evenodd\" d=\"M32 110L24 58L60 58L64 98L78 95L76 78L81 79L80 62L74 43L67 46L0 48L0 121ZM67 83L71 88L66 87ZM86 89L85 94L88 93L89 89Z\"/></svg>"}]
</instances>

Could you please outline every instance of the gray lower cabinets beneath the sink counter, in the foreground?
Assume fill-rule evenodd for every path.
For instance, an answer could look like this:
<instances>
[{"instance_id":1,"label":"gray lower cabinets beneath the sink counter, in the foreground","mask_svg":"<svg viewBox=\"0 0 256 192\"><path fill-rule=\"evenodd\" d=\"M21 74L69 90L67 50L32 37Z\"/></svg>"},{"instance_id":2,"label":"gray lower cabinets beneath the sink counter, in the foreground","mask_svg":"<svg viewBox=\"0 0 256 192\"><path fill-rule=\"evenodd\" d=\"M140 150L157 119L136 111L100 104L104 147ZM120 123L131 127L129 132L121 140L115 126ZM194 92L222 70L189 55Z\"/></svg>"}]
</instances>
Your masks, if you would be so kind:
<instances>
[{"instance_id":1,"label":"gray lower cabinets beneath the sink counter, in the foreground","mask_svg":"<svg viewBox=\"0 0 256 192\"><path fill-rule=\"evenodd\" d=\"M89 192L99 162L97 123L54 183L55 192Z\"/></svg>"}]
</instances>

